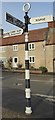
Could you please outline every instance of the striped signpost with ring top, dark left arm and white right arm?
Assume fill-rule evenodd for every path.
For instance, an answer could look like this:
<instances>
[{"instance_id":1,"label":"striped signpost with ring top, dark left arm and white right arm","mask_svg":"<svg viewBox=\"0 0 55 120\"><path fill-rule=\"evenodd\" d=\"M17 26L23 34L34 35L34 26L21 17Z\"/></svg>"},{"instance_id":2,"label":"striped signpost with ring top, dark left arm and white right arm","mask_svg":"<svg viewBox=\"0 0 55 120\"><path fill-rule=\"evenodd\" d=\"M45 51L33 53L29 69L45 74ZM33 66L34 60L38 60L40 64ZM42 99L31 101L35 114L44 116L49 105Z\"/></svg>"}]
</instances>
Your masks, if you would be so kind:
<instances>
[{"instance_id":1,"label":"striped signpost with ring top, dark left arm and white right arm","mask_svg":"<svg viewBox=\"0 0 55 120\"><path fill-rule=\"evenodd\" d=\"M13 17L9 13L6 13L6 21L23 29L25 35L25 98L26 98L26 114L31 114L31 90L30 90L30 72L29 72L29 55L28 55L28 24L38 24L53 21L53 16L41 16L35 18L29 18L28 11L30 10L30 4L23 5L23 11L25 12L25 24L19 19Z\"/></svg>"}]
</instances>

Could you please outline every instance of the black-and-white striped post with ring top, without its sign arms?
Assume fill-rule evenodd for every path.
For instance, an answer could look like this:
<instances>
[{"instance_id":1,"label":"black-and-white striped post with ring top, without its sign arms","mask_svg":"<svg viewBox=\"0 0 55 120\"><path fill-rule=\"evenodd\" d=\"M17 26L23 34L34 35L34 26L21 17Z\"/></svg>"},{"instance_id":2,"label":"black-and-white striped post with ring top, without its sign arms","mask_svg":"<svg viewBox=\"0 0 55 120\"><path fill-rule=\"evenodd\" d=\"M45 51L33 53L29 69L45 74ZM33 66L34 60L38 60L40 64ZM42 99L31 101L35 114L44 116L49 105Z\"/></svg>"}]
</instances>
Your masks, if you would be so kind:
<instances>
[{"instance_id":1,"label":"black-and-white striped post with ring top, without its sign arms","mask_svg":"<svg viewBox=\"0 0 55 120\"><path fill-rule=\"evenodd\" d=\"M31 114L31 90L30 90L30 73L29 73L29 55L28 55L28 23L29 16L28 11L30 10L30 4L26 3L23 5L23 11L25 12L25 98L26 98L26 114Z\"/></svg>"}]
</instances>

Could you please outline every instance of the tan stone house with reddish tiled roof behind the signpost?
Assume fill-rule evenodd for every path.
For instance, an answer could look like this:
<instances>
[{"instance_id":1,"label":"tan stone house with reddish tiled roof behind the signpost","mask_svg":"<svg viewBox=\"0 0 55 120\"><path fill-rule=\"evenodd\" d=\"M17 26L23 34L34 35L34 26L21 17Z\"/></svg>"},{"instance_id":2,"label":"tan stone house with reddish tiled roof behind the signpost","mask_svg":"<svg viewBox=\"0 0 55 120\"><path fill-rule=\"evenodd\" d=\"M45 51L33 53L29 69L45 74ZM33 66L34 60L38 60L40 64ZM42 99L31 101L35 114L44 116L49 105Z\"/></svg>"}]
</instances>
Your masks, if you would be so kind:
<instances>
[{"instance_id":1,"label":"tan stone house with reddish tiled roof behind the signpost","mask_svg":"<svg viewBox=\"0 0 55 120\"><path fill-rule=\"evenodd\" d=\"M0 30L0 61L7 67L7 60L12 58L12 67L18 64L25 68L24 34L10 35ZM29 63L38 69L45 66L48 72L55 71L55 21L48 22L47 28L29 31Z\"/></svg>"}]
</instances>

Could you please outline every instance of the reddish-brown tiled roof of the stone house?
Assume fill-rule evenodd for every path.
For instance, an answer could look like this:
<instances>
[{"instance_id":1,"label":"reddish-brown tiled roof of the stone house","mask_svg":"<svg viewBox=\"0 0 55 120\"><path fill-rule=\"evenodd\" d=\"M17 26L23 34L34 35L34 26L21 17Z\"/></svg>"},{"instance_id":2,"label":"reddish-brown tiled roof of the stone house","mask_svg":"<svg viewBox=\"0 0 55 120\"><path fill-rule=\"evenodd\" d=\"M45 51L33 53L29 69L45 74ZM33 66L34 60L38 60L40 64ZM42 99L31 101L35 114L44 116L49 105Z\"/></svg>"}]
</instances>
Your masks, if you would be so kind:
<instances>
[{"instance_id":1,"label":"reddish-brown tiled roof of the stone house","mask_svg":"<svg viewBox=\"0 0 55 120\"><path fill-rule=\"evenodd\" d=\"M54 29L42 28L29 31L29 42L40 42L43 41L44 39L47 39L47 44L53 44L55 43L55 39L53 40L53 38L55 38L55 28ZM24 34L18 36L11 36L3 39L0 38L0 46L21 44L24 42L25 42Z\"/></svg>"}]
</instances>

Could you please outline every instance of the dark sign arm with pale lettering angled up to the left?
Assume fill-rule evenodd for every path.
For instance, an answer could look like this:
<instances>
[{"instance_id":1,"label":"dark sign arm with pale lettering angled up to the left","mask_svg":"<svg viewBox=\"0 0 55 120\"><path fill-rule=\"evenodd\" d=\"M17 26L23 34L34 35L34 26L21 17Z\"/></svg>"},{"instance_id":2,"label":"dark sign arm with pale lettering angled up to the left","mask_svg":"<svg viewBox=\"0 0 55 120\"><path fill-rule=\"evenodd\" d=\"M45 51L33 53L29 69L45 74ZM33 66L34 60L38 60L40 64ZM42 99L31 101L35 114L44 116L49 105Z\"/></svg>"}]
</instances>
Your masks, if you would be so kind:
<instances>
[{"instance_id":1,"label":"dark sign arm with pale lettering angled up to the left","mask_svg":"<svg viewBox=\"0 0 55 120\"><path fill-rule=\"evenodd\" d=\"M6 12L6 21L17 26L17 27L20 27L20 28L24 28L25 25L22 21L20 21L19 19L13 17L12 15L10 15L9 13Z\"/></svg>"}]
</instances>

